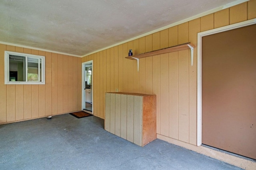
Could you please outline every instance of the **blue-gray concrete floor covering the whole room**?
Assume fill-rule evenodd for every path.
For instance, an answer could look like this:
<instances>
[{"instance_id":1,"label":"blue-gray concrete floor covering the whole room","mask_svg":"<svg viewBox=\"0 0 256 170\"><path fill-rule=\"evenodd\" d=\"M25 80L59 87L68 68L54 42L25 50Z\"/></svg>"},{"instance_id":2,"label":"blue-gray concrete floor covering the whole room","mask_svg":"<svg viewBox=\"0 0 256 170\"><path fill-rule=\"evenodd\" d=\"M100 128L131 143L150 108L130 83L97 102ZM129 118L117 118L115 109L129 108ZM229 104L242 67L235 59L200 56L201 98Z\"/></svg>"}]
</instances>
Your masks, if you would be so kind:
<instances>
[{"instance_id":1,"label":"blue-gray concrete floor covering the whole room","mask_svg":"<svg viewBox=\"0 0 256 170\"><path fill-rule=\"evenodd\" d=\"M139 147L70 114L0 125L1 170L238 170L156 139Z\"/></svg>"}]
</instances>

